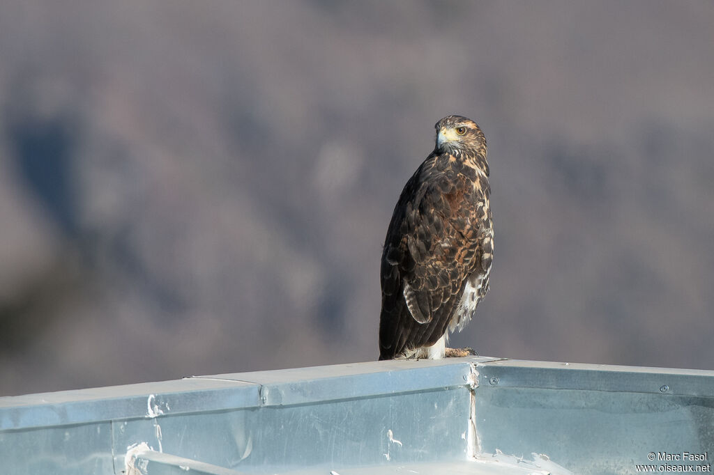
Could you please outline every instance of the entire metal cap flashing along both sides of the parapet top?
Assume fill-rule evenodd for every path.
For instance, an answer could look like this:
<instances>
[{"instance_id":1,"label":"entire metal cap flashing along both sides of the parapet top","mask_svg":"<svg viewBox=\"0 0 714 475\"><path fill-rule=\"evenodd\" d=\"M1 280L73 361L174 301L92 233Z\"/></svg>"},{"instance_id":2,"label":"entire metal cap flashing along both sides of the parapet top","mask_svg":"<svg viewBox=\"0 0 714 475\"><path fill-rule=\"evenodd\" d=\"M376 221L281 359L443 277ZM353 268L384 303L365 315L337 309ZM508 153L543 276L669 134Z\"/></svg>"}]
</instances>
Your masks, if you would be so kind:
<instances>
[{"instance_id":1,"label":"entire metal cap flashing along both sides of the parapet top","mask_svg":"<svg viewBox=\"0 0 714 475\"><path fill-rule=\"evenodd\" d=\"M0 397L0 431L459 387L714 397L714 371L494 357L336 364Z\"/></svg>"}]
</instances>

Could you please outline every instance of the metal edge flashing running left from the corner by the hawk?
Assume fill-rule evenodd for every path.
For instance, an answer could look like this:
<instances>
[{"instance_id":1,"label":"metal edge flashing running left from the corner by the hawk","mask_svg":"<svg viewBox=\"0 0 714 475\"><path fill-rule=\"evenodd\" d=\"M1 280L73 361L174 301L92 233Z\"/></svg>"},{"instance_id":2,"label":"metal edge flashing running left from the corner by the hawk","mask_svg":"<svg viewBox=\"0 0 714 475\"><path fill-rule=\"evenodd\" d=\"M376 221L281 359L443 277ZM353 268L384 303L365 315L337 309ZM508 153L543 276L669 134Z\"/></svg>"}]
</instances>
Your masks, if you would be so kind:
<instances>
[{"instance_id":1,"label":"metal edge flashing running left from the corner by the hawk","mask_svg":"<svg viewBox=\"0 0 714 475\"><path fill-rule=\"evenodd\" d=\"M469 362L337 364L0 397L0 431L453 389L468 384Z\"/></svg>"}]
</instances>

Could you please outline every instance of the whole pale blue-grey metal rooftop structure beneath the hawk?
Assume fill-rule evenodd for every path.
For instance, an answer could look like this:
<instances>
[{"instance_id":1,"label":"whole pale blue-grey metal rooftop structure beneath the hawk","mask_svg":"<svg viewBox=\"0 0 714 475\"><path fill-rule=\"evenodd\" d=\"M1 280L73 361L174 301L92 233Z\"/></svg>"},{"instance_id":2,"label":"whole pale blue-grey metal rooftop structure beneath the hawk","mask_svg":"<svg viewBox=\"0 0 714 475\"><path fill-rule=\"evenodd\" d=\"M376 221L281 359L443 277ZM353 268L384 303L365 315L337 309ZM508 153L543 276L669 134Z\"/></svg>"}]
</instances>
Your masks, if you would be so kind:
<instances>
[{"instance_id":1,"label":"whole pale blue-grey metal rooftop structure beneath the hawk","mask_svg":"<svg viewBox=\"0 0 714 475\"><path fill-rule=\"evenodd\" d=\"M0 398L2 473L121 474L129 449L132 475L635 473L714 456L714 372L473 357Z\"/></svg>"}]
</instances>

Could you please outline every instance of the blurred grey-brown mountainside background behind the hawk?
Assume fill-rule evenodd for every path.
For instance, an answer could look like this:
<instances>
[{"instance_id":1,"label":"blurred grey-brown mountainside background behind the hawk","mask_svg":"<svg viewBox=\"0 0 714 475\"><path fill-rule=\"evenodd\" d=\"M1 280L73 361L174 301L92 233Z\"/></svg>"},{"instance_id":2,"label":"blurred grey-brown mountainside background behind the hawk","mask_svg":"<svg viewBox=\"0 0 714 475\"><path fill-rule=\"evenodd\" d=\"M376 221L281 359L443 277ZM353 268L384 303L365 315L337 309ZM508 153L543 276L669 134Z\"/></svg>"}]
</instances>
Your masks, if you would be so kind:
<instances>
[{"instance_id":1,"label":"blurred grey-brown mountainside background behind the hawk","mask_svg":"<svg viewBox=\"0 0 714 475\"><path fill-rule=\"evenodd\" d=\"M381 245L486 133L479 354L714 369L710 1L3 0L0 394L376 359Z\"/></svg>"}]
</instances>

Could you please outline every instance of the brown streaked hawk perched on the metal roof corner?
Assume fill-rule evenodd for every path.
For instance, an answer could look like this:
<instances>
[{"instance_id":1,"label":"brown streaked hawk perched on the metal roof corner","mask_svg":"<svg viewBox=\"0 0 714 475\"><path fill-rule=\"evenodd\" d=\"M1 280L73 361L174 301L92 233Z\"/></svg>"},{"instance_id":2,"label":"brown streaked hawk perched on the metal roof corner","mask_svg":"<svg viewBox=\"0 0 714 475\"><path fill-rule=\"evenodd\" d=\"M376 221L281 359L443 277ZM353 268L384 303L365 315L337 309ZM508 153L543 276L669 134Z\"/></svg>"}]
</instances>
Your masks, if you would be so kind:
<instances>
[{"instance_id":1,"label":"brown streaked hawk perched on the metal roof corner","mask_svg":"<svg viewBox=\"0 0 714 475\"><path fill-rule=\"evenodd\" d=\"M488 291L493 223L486 138L474 121L436 123L436 146L404 186L381 260L379 359L466 356L446 348Z\"/></svg>"}]
</instances>

